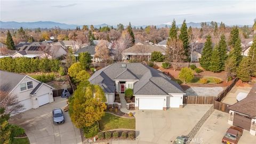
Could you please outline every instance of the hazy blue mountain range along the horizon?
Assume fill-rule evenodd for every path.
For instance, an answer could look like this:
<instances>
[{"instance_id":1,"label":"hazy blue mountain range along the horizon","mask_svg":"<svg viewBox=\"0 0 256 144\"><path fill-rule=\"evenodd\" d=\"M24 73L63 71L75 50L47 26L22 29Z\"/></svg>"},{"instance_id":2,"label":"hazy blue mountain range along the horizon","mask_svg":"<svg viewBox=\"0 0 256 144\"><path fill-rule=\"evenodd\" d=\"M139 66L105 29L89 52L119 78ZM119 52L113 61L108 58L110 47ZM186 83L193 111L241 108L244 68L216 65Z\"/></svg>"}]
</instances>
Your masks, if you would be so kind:
<instances>
[{"instance_id":1,"label":"hazy blue mountain range along the horizon","mask_svg":"<svg viewBox=\"0 0 256 144\"><path fill-rule=\"evenodd\" d=\"M210 24L210 22L206 22L207 24ZM218 23L219 25L220 23ZM157 25L157 28L162 28L162 27L170 27L172 25L172 22L166 22L164 24L161 25ZM54 27L59 27L61 29L75 29L76 27L80 27L82 28L82 25L70 25L70 24L66 24L66 23L59 23L59 22L53 22L53 21L35 21L35 22L16 22L16 21L0 21L0 28L4 28L4 29L18 29L20 27L23 28L54 28ZM101 25L94 25L95 28L99 28L99 27L105 27L105 26L111 26L108 25L106 23L103 23ZM178 27L181 27L181 24L177 25ZM188 22L187 23L187 27L194 27L194 28L200 28L201 24L200 22ZM233 25L232 25L233 26ZM243 25L238 25L239 27L243 27ZM90 25L89 25L90 27ZM114 28L116 28L116 26L113 26ZM132 26L132 27L136 27L136 28L145 28L147 27L146 25L142 25L142 26ZM251 26L249 26L251 27Z\"/></svg>"}]
</instances>

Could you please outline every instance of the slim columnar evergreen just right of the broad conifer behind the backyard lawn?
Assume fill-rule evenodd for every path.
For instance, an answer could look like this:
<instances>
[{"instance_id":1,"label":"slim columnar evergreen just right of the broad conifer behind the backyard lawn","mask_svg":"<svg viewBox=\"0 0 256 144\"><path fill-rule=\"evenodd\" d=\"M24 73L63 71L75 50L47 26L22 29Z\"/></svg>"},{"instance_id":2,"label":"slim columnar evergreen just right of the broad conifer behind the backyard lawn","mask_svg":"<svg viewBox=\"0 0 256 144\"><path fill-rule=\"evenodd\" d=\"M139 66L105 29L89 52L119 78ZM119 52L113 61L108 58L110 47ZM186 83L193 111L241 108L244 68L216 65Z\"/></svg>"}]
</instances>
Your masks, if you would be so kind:
<instances>
[{"instance_id":1,"label":"slim columnar evergreen just right of the broad conifer behind the backyard lawn","mask_svg":"<svg viewBox=\"0 0 256 144\"><path fill-rule=\"evenodd\" d=\"M227 42L226 42L226 37L223 34L220 36L219 51L220 51L221 70L224 70L225 61L227 60Z\"/></svg>"}]
</instances>

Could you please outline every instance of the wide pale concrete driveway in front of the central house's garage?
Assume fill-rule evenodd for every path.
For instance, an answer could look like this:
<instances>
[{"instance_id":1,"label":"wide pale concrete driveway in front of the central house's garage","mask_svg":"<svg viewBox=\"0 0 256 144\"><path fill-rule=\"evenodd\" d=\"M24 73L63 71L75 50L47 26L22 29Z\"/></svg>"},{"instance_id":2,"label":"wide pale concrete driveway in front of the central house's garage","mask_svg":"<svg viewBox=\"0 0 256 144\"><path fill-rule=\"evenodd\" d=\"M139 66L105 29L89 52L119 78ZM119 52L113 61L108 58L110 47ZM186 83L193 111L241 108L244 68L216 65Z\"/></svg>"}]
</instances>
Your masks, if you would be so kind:
<instances>
[{"instance_id":1,"label":"wide pale concrete driveway in front of the central house's garage","mask_svg":"<svg viewBox=\"0 0 256 144\"><path fill-rule=\"evenodd\" d=\"M136 140L139 143L172 143L176 137L187 135L211 106L136 110Z\"/></svg>"}]
</instances>

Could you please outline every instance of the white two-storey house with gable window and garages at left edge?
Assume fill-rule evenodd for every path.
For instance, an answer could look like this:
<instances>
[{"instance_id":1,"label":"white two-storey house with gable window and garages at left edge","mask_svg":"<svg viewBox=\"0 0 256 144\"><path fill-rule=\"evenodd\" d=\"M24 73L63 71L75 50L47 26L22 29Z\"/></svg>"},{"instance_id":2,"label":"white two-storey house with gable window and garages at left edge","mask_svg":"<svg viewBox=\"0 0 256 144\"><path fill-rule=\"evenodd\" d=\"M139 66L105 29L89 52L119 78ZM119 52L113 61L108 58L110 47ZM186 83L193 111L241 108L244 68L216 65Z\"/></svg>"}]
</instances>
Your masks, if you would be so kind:
<instances>
[{"instance_id":1,"label":"white two-storey house with gable window and garages at left edge","mask_svg":"<svg viewBox=\"0 0 256 144\"><path fill-rule=\"evenodd\" d=\"M30 76L0 70L0 81L0 90L17 95L18 101L25 108L23 111L53 102L54 88Z\"/></svg>"}]
</instances>

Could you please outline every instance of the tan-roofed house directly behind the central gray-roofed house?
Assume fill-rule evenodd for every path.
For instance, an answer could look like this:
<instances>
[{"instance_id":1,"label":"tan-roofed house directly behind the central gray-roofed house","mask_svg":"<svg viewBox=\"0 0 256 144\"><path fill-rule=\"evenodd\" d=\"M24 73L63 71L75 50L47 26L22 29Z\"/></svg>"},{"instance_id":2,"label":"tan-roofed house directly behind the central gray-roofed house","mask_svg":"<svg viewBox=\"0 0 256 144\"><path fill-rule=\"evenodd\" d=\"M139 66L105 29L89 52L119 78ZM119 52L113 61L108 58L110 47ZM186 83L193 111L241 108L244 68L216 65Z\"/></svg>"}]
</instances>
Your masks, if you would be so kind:
<instances>
[{"instance_id":1,"label":"tan-roofed house directly behind the central gray-roofed house","mask_svg":"<svg viewBox=\"0 0 256 144\"><path fill-rule=\"evenodd\" d=\"M165 55L166 47L156 45L134 45L124 50L124 60L151 59L151 52L158 51Z\"/></svg>"}]
</instances>

